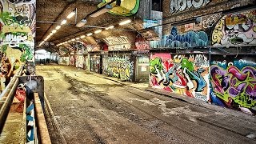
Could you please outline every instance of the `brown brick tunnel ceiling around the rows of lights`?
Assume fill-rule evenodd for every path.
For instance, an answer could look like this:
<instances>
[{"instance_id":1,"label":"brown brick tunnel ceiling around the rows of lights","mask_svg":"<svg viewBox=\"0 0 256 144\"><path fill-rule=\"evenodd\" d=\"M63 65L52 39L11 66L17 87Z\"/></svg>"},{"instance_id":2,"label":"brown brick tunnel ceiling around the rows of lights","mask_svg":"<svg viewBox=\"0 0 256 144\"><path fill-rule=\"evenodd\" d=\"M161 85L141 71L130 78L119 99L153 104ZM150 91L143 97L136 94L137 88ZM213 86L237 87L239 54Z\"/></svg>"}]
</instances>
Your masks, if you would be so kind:
<instances>
[{"instance_id":1,"label":"brown brick tunnel ceiling around the rows of lights","mask_svg":"<svg viewBox=\"0 0 256 144\"><path fill-rule=\"evenodd\" d=\"M102 0L41 0L37 2L37 33L36 33L36 50L45 49L51 53L58 53L58 43L66 42L72 38L80 37L81 35L86 35L90 32L98 30L94 27L77 27L75 22L75 16L73 18L67 19L66 16L70 14L73 10L77 9L77 23L86 18L86 16L92 13L94 10L98 9L98 6L102 6L104 2ZM130 42L134 42L136 30L143 29L143 22L141 18L138 18L136 11L138 10L138 0L124 0L122 2L132 2L133 5L125 10L124 5L121 3L120 7L116 6L116 3L112 3L115 6L115 11L112 9L110 13L101 14L98 17L92 18L87 17L86 26L101 26L107 27L114 25L114 30L104 30L102 33L94 34L90 37L80 39L81 42L86 42L86 44L97 45L97 42L105 42L104 39L107 37L120 37L126 35ZM119 10L119 11L117 11ZM120 11L123 10L123 14ZM118 14L119 12L119 14ZM132 15L132 16L130 16ZM130 25L118 26L118 23L122 20L130 18L132 23ZM67 22L62 25L55 34L53 34L46 42L43 42L42 46L38 46L46 37L60 25L63 19ZM120 30L117 30L120 29ZM126 30L121 30L126 29ZM95 43L96 42L96 43Z\"/></svg>"}]
</instances>

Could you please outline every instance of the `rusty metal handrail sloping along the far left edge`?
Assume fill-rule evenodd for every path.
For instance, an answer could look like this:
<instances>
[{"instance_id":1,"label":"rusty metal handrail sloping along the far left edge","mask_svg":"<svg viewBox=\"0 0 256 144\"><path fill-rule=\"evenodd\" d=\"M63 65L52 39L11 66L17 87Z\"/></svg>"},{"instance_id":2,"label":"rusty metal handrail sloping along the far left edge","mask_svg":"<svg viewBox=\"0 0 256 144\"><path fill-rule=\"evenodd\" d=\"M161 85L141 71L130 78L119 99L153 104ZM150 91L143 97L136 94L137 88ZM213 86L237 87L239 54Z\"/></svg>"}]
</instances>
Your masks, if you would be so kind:
<instances>
[{"instance_id":1,"label":"rusty metal handrail sloping along the far left edge","mask_svg":"<svg viewBox=\"0 0 256 144\"><path fill-rule=\"evenodd\" d=\"M23 67L23 65L19 67L18 73L14 74L14 77L10 79L10 83L6 86L6 89L3 90L2 94L0 95L0 133L2 133L2 129L6 122L10 106L13 102L15 91L18 86L18 76L22 74Z\"/></svg>"}]
</instances>

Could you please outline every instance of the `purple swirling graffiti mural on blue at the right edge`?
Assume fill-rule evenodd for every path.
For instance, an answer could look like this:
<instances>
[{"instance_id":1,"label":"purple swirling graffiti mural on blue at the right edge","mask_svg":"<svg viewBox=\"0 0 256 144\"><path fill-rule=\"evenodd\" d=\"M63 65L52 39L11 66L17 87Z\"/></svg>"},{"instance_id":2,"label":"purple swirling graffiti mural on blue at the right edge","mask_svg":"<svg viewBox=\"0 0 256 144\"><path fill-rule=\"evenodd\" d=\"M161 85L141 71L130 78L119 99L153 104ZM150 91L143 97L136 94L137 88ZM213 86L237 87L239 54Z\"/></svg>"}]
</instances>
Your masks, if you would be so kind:
<instances>
[{"instance_id":1,"label":"purple swirling graffiti mural on blue at the right edge","mask_svg":"<svg viewBox=\"0 0 256 144\"><path fill-rule=\"evenodd\" d=\"M219 106L256 113L256 63L213 61L210 66L211 101Z\"/></svg>"}]
</instances>

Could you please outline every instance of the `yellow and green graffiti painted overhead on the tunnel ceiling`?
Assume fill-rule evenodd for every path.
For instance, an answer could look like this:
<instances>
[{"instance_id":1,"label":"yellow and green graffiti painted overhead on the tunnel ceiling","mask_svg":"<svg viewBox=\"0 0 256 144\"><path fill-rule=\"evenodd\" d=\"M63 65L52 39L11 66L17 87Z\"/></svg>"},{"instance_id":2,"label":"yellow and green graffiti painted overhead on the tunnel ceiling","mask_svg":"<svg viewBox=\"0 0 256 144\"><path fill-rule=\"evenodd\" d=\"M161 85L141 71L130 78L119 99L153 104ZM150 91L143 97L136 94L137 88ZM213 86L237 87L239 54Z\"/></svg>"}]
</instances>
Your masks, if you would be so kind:
<instances>
[{"instance_id":1,"label":"yellow and green graffiti painted overhead on the tunnel ceiling","mask_svg":"<svg viewBox=\"0 0 256 144\"><path fill-rule=\"evenodd\" d=\"M108 2L111 2L111 0L102 0L102 3L98 4L98 7L104 6ZM108 11L110 14L130 16L137 13L139 0L117 0L110 5L113 7Z\"/></svg>"}]
</instances>

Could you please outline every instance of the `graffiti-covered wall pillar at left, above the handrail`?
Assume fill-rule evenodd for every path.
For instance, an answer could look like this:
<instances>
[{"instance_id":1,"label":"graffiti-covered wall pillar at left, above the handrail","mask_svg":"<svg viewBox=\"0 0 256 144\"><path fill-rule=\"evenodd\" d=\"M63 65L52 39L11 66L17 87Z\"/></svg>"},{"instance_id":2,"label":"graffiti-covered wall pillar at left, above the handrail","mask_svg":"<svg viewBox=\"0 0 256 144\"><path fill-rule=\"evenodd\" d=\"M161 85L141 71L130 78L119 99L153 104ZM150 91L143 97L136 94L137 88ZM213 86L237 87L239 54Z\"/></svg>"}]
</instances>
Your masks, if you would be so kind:
<instances>
[{"instance_id":1,"label":"graffiti-covered wall pillar at left, above the handrail","mask_svg":"<svg viewBox=\"0 0 256 144\"><path fill-rule=\"evenodd\" d=\"M0 92L26 60L34 61L35 0L0 1Z\"/></svg>"}]
</instances>

